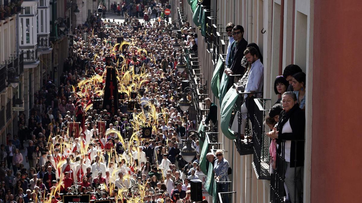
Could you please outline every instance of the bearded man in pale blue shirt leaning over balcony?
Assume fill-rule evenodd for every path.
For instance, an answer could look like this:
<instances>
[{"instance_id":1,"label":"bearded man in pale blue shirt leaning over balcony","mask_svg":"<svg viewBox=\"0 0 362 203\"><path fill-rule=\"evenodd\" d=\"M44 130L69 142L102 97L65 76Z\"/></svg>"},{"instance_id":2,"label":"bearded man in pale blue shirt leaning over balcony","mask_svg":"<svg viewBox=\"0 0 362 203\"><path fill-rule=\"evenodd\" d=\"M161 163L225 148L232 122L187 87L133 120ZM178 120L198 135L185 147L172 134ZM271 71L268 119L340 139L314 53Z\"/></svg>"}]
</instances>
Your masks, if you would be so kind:
<instances>
[{"instance_id":1,"label":"bearded man in pale blue shirt leaning over balcony","mask_svg":"<svg viewBox=\"0 0 362 203\"><path fill-rule=\"evenodd\" d=\"M259 59L259 52L254 47L248 47L244 51L245 58L248 60L249 63L251 63L251 68L248 75L248 82L245 86L244 92L251 92L249 94L245 94L244 98L245 101L248 101L248 108L246 107L246 104L244 102L243 105L241 105L241 132L240 132L240 138L244 139L244 130L246 125L246 118L247 113L249 110L250 114L254 113L254 98L261 98L260 93L253 93L253 92L261 92L263 88L263 82L264 82L264 66L261 63ZM250 118L253 118L252 116ZM253 123L253 120L251 120ZM249 138L248 138L249 139Z\"/></svg>"}]
</instances>

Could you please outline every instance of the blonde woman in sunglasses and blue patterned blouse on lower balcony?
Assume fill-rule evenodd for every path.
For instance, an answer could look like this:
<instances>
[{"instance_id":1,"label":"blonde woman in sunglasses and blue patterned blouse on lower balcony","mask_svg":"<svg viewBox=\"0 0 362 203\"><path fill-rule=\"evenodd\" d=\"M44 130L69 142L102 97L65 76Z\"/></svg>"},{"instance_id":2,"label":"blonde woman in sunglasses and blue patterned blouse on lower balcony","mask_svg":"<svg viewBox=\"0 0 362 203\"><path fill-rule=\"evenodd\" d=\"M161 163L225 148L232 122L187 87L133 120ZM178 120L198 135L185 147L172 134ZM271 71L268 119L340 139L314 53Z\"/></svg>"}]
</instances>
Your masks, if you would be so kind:
<instances>
[{"instance_id":1,"label":"blonde woman in sunglasses and blue patterned blouse on lower balcony","mask_svg":"<svg viewBox=\"0 0 362 203\"><path fill-rule=\"evenodd\" d=\"M222 150L217 150L215 154L217 159L215 160L214 163L215 179L217 181L223 182L219 183L218 190L222 193L228 192L229 183L225 181L229 181L228 177L229 162L226 159L224 159L224 154ZM229 202L228 194L223 195L223 202Z\"/></svg>"}]
</instances>

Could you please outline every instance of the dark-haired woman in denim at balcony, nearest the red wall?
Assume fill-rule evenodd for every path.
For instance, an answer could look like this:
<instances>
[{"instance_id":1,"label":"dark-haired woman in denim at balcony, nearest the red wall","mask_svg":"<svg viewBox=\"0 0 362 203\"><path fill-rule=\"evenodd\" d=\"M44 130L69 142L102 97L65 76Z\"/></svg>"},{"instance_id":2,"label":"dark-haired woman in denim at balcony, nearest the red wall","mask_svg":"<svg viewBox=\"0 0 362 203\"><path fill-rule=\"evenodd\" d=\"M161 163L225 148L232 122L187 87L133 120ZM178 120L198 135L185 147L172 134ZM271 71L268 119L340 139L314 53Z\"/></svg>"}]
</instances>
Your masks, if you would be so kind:
<instances>
[{"instance_id":1,"label":"dark-haired woman in denim at balcony, nearest the red wall","mask_svg":"<svg viewBox=\"0 0 362 203\"><path fill-rule=\"evenodd\" d=\"M295 73L292 78L292 87L296 95L299 108L305 109L306 105L306 74L303 72Z\"/></svg>"}]
</instances>

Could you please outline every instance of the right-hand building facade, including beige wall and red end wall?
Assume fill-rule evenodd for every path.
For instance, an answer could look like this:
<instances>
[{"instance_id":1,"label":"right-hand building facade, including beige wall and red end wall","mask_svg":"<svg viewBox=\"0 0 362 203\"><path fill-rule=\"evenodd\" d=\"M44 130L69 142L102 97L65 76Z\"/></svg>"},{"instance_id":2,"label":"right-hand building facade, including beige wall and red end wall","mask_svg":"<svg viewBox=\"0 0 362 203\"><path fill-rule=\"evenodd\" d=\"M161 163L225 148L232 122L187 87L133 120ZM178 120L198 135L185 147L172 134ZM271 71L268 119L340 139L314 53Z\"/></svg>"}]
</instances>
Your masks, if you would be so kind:
<instances>
[{"instance_id":1,"label":"right-hand building facade, including beige wall and red end wall","mask_svg":"<svg viewBox=\"0 0 362 203\"><path fill-rule=\"evenodd\" d=\"M198 27L199 25L194 23L194 12L189 3L190 1L184 0L177 5L179 17L190 22L192 27ZM352 89L357 90L361 87L361 82L355 75L361 74L356 62L342 62L341 59L349 54L357 58L356 49L361 46L361 42L355 39L360 29L354 28L353 24L357 23L357 19L361 19L361 3L352 1L347 5L337 1L313 0L204 0L202 4L207 5L203 9L209 18L201 25L206 27L205 33L200 28L196 29L198 55L195 56L195 60L198 64L195 66L201 69L199 72L204 77L203 81L209 81L206 82L206 93L212 102L219 103L211 91L210 81L219 54L225 56L226 53L228 38L225 27L228 22L233 22L244 27L245 40L248 43L256 43L264 58L263 98L271 101L278 99L273 89L274 80L277 75L282 75L287 65L296 64L307 75L303 202L360 202L361 197L353 195L358 191L352 185L357 187L361 178L354 179L352 174L361 167L361 161L353 161L352 167L337 164L337 167L329 168L328 165L333 165L333 162L347 163L347 157L350 159L361 154L349 150L350 147L358 148L357 143L345 140L341 146L338 142L333 142L338 139L337 131L347 133L347 140L358 139L355 137L358 134L357 129L346 129L344 125L354 125L361 110L353 105L351 111L358 112L357 117L337 115L345 112L342 105L347 101L343 102L342 98L348 97L347 94L352 93ZM349 21L348 19L353 20L343 23ZM196 20L199 20L199 17L196 17ZM190 66L193 66L192 63ZM345 67L348 67L348 70ZM337 81L341 78L343 82L340 81L342 84L338 85L340 82ZM358 82L355 84L353 81ZM352 86L354 88L348 88ZM333 102L326 101L330 99ZM354 95L351 102L357 102L359 99L359 94ZM201 107L201 112L202 110ZM220 105L218 112L220 121ZM343 124L337 124L338 121ZM243 149L240 150L240 147L224 136L221 130L218 133L218 142L223 143L220 148L224 150L225 158L232 168L230 190L236 192L233 194L233 202L270 202L273 196L270 177L260 174L260 167L255 163L256 152L243 154ZM266 138L262 142L268 141ZM269 145L267 148L269 149ZM268 153L269 151L266 154ZM342 188L335 185L336 183L342 185Z\"/></svg>"}]
</instances>

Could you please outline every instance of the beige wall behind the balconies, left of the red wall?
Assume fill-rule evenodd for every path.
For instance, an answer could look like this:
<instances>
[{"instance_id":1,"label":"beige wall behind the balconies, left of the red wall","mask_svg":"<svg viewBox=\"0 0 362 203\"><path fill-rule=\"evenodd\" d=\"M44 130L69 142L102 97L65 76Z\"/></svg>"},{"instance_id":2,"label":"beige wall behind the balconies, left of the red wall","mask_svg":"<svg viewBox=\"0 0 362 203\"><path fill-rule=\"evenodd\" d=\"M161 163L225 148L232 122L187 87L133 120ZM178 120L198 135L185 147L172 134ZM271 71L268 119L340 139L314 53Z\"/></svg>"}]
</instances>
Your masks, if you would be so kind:
<instances>
[{"instance_id":1,"label":"beige wall behind the balconies, left of the red wall","mask_svg":"<svg viewBox=\"0 0 362 203\"><path fill-rule=\"evenodd\" d=\"M214 2L211 0L211 2ZM313 0L284 0L282 11L282 0L218 0L216 5L217 24L224 27L228 22L242 25L245 33L244 38L248 43L258 44L264 58L264 98L277 100L273 90L274 79L279 75L279 48L283 48L282 67L291 63L299 65L307 74L307 104L306 104L306 161L304 164L304 202L310 202L310 130L311 129L311 79L312 79L312 43L313 43ZM187 1L184 0L185 17L190 24L192 12ZM213 4L213 3L211 3ZM283 12L283 13L281 13ZM281 14L283 14L283 33L280 33ZM294 18L293 18L294 15ZM294 19L294 21L293 21ZM294 29L294 31L293 31ZM265 33L261 33L265 31ZM211 54L207 52L207 44L197 29L198 34L198 57L207 83L207 93L210 94L212 102L215 100L210 90L210 81L213 69ZM280 44L280 35L283 43ZM273 103L274 103L273 102ZM219 106L219 105L218 105ZM218 109L220 112L220 109ZM308 122L309 121L309 122ZM220 129L220 128L219 128ZM236 191L237 203L268 203L270 201L270 181L257 180L252 167L253 155L240 156L232 141L219 135L219 142L225 150L225 158L229 161L233 174L231 191Z\"/></svg>"}]
</instances>

